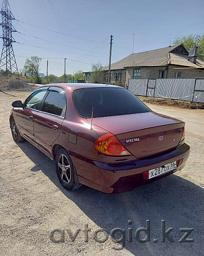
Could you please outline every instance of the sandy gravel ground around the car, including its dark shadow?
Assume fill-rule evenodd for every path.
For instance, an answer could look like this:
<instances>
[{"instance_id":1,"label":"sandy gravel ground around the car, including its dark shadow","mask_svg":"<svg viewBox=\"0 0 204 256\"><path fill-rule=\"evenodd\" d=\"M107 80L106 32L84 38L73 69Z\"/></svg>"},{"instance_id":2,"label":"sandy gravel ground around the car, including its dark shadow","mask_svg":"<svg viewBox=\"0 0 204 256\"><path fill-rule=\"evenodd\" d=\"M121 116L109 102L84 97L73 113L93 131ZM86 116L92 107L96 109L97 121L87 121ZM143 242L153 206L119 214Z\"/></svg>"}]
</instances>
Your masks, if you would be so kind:
<instances>
[{"instance_id":1,"label":"sandy gravel ground around the car, including its dark shadow","mask_svg":"<svg viewBox=\"0 0 204 256\"><path fill-rule=\"evenodd\" d=\"M24 100L28 94L0 92L2 256L203 255L203 109L147 104L153 111L186 121L186 143L191 153L186 167L176 175L123 194L105 194L85 186L69 192L58 182L55 165L47 156L27 141L15 144L11 137L11 103ZM150 220L150 242L140 243L134 234L139 227L146 227L146 220ZM166 221L166 230L174 228L174 242L161 241L161 220ZM82 231L85 224L91 229L88 242ZM106 242L96 242L93 237L99 227L109 233ZM54 243L49 236L54 228L81 231L74 242L65 231L65 242ZM125 248L119 251L113 249L120 246L110 237L115 228L125 229L126 234ZM128 228L133 231L132 242ZM183 228L194 229L188 237L194 242L178 242L185 234L179 230ZM98 237L101 235L105 234Z\"/></svg>"}]
</instances>

